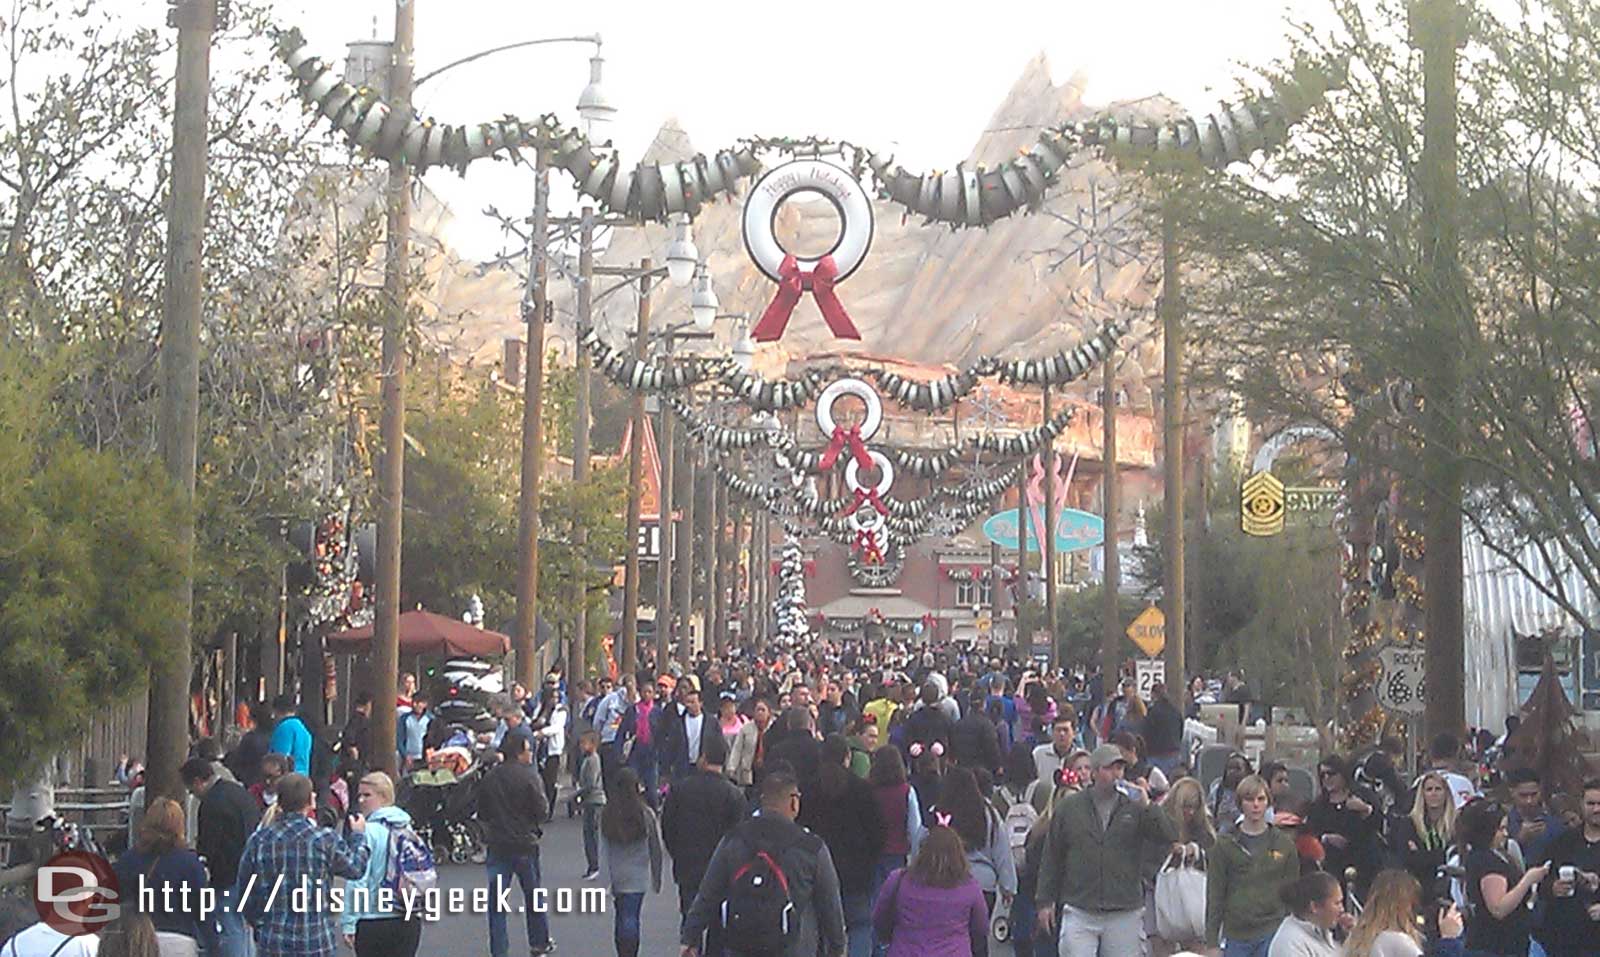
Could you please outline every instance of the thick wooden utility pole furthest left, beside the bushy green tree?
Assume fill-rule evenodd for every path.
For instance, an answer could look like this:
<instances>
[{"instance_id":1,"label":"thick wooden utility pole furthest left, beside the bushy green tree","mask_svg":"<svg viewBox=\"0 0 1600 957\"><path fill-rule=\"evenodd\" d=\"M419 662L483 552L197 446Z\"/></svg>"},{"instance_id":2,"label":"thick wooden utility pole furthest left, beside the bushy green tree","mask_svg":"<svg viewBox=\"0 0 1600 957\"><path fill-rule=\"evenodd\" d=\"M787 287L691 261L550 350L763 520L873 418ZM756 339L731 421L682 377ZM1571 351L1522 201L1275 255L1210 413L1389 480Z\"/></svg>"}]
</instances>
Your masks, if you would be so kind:
<instances>
[{"instance_id":1,"label":"thick wooden utility pole furthest left, beside the bushy green tree","mask_svg":"<svg viewBox=\"0 0 1600 957\"><path fill-rule=\"evenodd\" d=\"M166 224L166 302L162 315L162 464L178 498L178 616L150 666L146 760L149 794L182 799L178 768L189 757L189 663L194 611L195 456L200 432L200 309L205 291L206 104L216 0L176 6L178 83L173 106L173 200Z\"/></svg>"}]
</instances>

